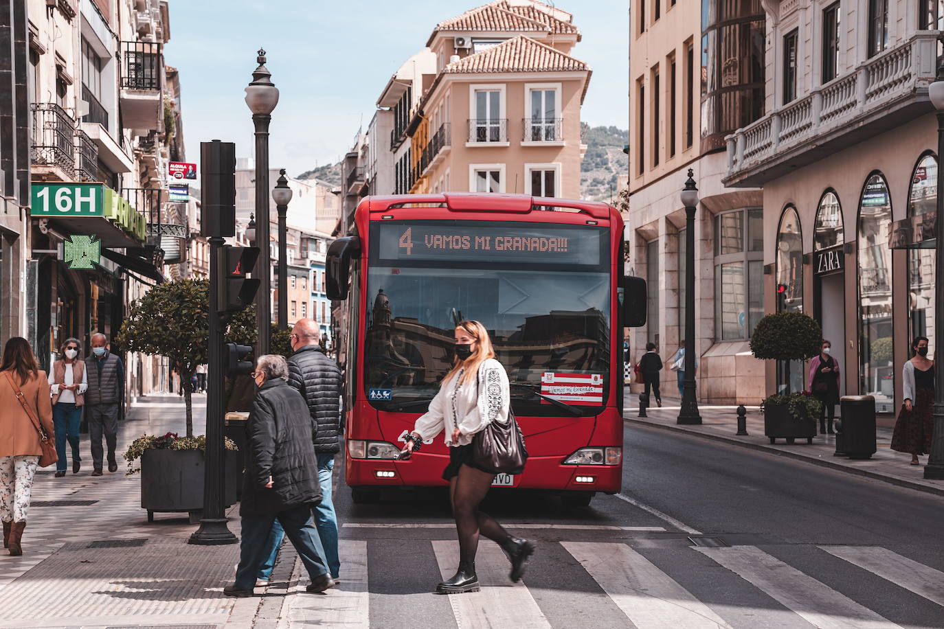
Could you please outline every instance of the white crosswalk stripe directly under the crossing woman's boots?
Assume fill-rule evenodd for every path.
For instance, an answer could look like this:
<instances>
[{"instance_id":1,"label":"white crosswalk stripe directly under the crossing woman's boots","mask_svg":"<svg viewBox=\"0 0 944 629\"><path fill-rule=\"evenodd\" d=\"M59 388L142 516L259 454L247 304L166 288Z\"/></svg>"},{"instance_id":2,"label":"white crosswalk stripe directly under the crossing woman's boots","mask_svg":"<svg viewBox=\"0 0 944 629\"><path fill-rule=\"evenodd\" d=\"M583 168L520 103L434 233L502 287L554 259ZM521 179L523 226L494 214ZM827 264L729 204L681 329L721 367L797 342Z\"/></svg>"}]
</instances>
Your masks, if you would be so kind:
<instances>
[{"instance_id":1,"label":"white crosswalk stripe directly under the crossing woman's boots","mask_svg":"<svg viewBox=\"0 0 944 629\"><path fill-rule=\"evenodd\" d=\"M432 542L439 571L450 578L459 564L458 546L454 541ZM476 555L476 572L480 592L448 595L456 624L460 627L515 627L516 629L550 629L550 622L534 601L523 582L508 579L508 559L497 545L485 541Z\"/></svg>"}]
</instances>

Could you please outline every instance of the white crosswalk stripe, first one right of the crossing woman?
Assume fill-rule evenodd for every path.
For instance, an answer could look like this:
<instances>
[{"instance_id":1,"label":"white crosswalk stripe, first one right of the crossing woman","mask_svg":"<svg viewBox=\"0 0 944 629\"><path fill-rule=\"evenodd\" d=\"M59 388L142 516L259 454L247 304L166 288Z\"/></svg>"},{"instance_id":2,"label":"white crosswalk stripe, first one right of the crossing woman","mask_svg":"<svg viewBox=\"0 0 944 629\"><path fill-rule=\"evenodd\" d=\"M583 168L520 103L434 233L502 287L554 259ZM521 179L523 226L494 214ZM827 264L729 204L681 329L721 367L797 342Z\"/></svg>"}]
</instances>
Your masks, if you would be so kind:
<instances>
[{"instance_id":1,"label":"white crosswalk stripe, first one right of the crossing woman","mask_svg":"<svg viewBox=\"0 0 944 629\"><path fill-rule=\"evenodd\" d=\"M639 629L728 627L672 577L626 544L562 541Z\"/></svg>"}]
</instances>

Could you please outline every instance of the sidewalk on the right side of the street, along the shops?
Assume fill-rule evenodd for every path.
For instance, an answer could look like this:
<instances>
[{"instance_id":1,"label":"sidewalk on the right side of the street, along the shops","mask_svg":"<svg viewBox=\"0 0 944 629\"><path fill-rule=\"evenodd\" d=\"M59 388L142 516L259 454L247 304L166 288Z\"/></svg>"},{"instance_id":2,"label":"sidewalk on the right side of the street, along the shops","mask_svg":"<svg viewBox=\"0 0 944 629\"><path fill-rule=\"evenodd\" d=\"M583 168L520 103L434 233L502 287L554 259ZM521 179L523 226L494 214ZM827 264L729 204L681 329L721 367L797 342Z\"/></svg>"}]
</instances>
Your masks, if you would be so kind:
<instances>
[{"instance_id":1,"label":"sidewalk on the right side of the street, along the shops","mask_svg":"<svg viewBox=\"0 0 944 629\"><path fill-rule=\"evenodd\" d=\"M808 463L867 476L876 480L885 481L906 488L918 489L928 493L944 495L944 481L924 479L924 463L926 456L921 456L921 465L911 465L911 455L891 450L891 428L879 427L876 429L878 452L867 460L853 460L845 456L835 456L835 436L818 435L813 444L808 445L806 439L797 439L795 445L784 443L784 439L777 439L771 444L770 439L764 436L764 415L757 406L748 406L747 437L738 437L736 406L707 406L700 405L701 423L699 425L680 425L676 423L679 417L679 406L671 400L663 401L662 408L647 409L649 417L637 417L639 399L637 395L627 394L625 398L624 419L627 422L639 423L664 430L695 435L703 439L715 439L733 445L751 448L771 455L788 456Z\"/></svg>"}]
</instances>

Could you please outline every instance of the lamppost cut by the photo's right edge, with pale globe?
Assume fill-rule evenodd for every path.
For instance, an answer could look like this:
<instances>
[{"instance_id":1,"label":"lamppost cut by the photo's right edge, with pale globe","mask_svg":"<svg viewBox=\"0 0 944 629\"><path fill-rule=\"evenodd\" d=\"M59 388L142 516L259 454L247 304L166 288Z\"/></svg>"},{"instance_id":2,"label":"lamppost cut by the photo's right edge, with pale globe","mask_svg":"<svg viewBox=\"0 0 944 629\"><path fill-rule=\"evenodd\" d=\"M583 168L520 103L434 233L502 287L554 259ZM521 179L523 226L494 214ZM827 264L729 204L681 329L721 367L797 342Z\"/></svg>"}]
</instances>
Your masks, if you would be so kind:
<instances>
[{"instance_id":1,"label":"lamppost cut by the photo's right edge, with pale globe","mask_svg":"<svg viewBox=\"0 0 944 629\"><path fill-rule=\"evenodd\" d=\"M944 178L941 178L940 163L944 157L944 66L937 69L937 80L928 88L931 102L937 109L937 224L935 245L935 278L944 278ZM938 348L944 341L944 290L937 285L935 290L935 356L944 356ZM935 429L931 442L931 455L924 466L924 477L944 479L944 369L935 371Z\"/></svg>"}]
</instances>

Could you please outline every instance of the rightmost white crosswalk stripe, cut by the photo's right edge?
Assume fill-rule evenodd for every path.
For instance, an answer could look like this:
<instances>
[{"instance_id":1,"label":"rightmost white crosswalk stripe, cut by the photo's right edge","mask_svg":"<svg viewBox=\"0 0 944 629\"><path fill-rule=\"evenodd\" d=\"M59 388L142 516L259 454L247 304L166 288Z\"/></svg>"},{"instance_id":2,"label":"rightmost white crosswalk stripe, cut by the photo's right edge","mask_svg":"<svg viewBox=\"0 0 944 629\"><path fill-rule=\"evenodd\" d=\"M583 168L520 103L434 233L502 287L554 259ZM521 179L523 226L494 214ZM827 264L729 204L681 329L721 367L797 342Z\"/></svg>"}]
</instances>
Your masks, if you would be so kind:
<instances>
[{"instance_id":1,"label":"rightmost white crosswalk stripe, cut by the photo's right edge","mask_svg":"<svg viewBox=\"0 0 944 629\"><path fill-rule=\"evenodd\" d=\"M830 555L944 606L944 572L877 546L819 546Z\"/></svg>"}]
</instances>

